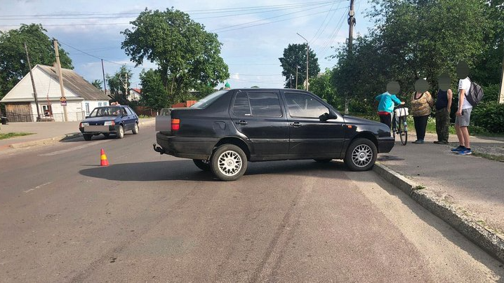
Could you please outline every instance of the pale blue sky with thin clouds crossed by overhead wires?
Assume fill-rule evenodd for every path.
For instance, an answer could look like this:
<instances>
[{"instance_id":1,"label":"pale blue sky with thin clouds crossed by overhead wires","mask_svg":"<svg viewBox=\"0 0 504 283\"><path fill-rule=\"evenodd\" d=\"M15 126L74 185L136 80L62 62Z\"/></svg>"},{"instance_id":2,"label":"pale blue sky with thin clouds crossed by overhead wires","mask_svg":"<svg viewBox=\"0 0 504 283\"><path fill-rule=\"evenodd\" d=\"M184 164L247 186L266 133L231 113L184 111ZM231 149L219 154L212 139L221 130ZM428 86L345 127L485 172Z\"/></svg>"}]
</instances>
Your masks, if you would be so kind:
<instances>
[{"instance_id":1,"label":"pale blue sky with thin clouds crossed by overhead wires","mask_svg":"<svg viewBox=\"0 0 504 283\"><path fill-rule=\"evenodd\" d=\"M336 64L328 57L336 53L334 47L347 40L350 0L0 0L0 30L40 23L50 38L58 39L74 70L86 80L102 80L104 60L105 74L114 74L126 64L133 71L131 88L141 88L138 74L156 65L147 61L135 67L121 49L121 31L131 29L129 22L145 8L175 8L204 25L207 32L218 34L232 88L283 88L279 57L289 44L302 44L307 39L321 71ZM369 8L368 1L355 0L354 36L366 34L372 26L364 17Z\"/></svg>"}]
</instances>

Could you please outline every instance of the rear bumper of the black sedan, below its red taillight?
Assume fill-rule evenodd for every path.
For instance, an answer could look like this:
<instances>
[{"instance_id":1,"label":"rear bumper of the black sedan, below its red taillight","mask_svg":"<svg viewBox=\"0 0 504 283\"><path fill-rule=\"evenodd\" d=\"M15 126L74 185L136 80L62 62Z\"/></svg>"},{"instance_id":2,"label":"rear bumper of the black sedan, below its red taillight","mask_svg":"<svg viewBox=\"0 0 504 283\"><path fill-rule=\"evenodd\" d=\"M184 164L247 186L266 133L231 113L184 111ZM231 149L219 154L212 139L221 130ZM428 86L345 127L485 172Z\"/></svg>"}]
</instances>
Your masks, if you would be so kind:
<instances>
[{"instance_id":1,"label":"rear bumper of the black sedan, below its red taillight","mask_svg":"<svg viewBox=\"0 0 504 283\"><path fill-rule=\"evenodd\" d=\"M161 149L154 151L180 158L207 160L213 152L213 147L219 139L208 137L178 137L167 136L158 132L156 141Z\"/></svg>"}]
</instances>

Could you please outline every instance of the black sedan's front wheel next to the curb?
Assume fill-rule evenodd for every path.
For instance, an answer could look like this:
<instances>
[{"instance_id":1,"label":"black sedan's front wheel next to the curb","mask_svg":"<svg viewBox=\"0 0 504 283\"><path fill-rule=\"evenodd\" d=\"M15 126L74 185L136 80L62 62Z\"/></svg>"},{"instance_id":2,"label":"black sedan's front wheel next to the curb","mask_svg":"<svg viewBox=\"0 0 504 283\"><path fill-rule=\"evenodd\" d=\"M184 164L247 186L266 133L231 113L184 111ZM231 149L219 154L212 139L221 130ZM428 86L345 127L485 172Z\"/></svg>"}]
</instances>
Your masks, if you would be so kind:
<instances>
[{"instance_id":1,"label":"black sedan's front wheel next to the curb","mask_svg":"<svg viewBox=\"0 0 504 283\"><path fill-rule=\"evenodd\" d=\"M369 139L355 139L348 146L345 154L345 165L352 171L370 170L376 162L378 151L373 141Z\"/></svg>"}]
</instances>

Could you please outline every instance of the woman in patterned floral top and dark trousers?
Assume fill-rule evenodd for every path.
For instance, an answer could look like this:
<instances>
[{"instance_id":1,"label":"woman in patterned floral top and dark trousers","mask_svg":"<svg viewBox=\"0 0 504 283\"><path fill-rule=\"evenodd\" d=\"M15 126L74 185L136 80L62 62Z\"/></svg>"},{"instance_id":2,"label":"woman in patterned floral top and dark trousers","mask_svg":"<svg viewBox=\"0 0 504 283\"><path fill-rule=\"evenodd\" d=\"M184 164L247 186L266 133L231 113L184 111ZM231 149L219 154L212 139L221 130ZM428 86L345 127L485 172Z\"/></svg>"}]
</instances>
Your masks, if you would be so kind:
<instances>
[{"instance_id":1,"label":"woman in patterned floral top and dark trousers","mask_svg":"<svg viewBox=\"0 0 504 283\"><path fill-rule=\"evenodd\" d=\"M411 95L411 116L415 121L416 141L413 144L423 144L425 139L425 128L427 118L429 118L431 107L434 104L430 92L427 91L429 84L425 79L420 78L415 83L415 92Z\"/></svg>"}]
</instances>

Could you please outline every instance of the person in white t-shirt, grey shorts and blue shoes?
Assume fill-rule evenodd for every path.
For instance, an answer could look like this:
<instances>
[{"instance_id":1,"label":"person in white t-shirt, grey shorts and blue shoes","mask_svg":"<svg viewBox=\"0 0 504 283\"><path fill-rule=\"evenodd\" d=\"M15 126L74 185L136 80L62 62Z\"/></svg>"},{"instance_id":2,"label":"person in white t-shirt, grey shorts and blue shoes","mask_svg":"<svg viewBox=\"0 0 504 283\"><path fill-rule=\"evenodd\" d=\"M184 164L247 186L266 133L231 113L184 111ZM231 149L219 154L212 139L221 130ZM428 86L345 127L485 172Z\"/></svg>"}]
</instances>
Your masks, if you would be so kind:
<instances>
[{"instance_id":1,"label":"person in white t-shirt, grey shorts and blue shoes","mask_svg":"<svg viewBox=\"0 0 504 283\"><path fill-rule=\"evenodd\" d=\"M467 101L467 95L471 88L471 81L469 79L469 66L466 62L459 62L457 65L458 81L458 109L455 118L455 130L458 137L458 147L451 149L454 153L461 155L469 155L472 153L469 140L469 126L472 105Z\"/></svg>"}]
</instances>

